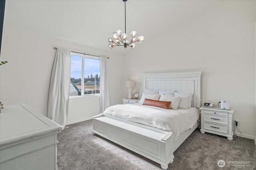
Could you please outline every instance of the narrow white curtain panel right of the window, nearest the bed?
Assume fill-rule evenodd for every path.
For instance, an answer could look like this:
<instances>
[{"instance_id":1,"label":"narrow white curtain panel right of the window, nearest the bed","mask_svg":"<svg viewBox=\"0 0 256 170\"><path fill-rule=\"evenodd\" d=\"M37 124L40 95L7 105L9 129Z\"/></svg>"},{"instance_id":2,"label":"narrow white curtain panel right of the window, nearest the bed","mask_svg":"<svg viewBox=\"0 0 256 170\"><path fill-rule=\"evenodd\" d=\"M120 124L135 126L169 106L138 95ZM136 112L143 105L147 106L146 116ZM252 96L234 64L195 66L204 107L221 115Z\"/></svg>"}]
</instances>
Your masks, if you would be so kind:
<instances>
[{"instance_id":1,"label":"narrow white curtain panel right of the window, nearest the bed","mask_svg":"<svg viewBox=\"0 0 256 170\"><path fill-rule=\"evenodd\" d=\"M100 57L100 113L110 106L107 63L106 57Z\"/></svg>"}]
</instances>

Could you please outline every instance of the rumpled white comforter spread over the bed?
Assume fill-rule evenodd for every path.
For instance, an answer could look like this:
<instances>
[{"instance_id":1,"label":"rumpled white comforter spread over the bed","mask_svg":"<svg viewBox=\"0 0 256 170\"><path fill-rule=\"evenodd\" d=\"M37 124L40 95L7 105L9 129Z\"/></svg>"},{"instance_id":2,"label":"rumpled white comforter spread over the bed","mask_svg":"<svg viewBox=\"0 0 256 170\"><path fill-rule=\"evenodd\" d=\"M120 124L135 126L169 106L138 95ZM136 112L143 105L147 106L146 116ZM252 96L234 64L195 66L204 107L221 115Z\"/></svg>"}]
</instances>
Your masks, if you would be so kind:
<instances>
[{"instance_id":1,"label":"rumpled white comforter spread over the bed","mask_svg":"<svg viewBox=\"0 0 256 170\"><path fill-rule=\"evenodd\" d=\"M140 104L110 106L104 114L173 132L174 141L184 131L192 128L200 115L194 107L173 110Z\"/></svg>"}]
</instances>

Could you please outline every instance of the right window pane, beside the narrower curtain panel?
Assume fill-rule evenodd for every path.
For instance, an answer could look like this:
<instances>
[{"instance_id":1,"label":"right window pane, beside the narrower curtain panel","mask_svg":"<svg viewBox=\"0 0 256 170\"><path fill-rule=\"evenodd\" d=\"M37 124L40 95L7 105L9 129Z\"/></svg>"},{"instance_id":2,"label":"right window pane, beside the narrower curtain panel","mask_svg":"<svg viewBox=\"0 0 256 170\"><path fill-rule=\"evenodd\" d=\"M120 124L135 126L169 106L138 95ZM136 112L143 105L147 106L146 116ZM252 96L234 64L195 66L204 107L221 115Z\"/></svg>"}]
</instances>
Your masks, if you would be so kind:
<instances>
[{"instance_id":1,"label":"right window pane, beside the narrower curtain panel","mask_svg":"<svg viewBox=\"0 0 256 170\"><path fill-rule=\"evenodd\" d=\"M100 93L100 60L84 58L84 94Z\"/></svg>"}]
</instances>

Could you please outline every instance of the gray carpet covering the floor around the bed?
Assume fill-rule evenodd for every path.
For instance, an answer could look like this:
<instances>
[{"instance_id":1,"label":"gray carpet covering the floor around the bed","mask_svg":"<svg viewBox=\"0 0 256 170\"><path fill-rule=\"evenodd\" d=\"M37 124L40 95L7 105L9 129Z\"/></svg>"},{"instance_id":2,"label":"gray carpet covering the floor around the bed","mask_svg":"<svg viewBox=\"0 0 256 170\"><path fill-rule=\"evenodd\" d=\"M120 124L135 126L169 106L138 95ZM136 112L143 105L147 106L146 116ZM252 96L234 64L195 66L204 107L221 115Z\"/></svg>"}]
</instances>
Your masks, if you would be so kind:
<instances>
[{"instance_id":1,"label":"gray carpet covering the floor around the bed","mask_svg":"<svg viewBox=\"0 0 256 170\"><path fill-rule=\"evenodd\" d=\"M58 134L58 170L160 170L160 164L92 135L92 120L68 125ZM226 165L219 168L218 160ZM227 161L249 161L247 165ZM231 163L231 162L230 162ZM255 168L255 169L254 169ZM254 140L238 137L228 141L196 129L174 152L168 170L256 170Z\"/></svg>"}]
</instances>

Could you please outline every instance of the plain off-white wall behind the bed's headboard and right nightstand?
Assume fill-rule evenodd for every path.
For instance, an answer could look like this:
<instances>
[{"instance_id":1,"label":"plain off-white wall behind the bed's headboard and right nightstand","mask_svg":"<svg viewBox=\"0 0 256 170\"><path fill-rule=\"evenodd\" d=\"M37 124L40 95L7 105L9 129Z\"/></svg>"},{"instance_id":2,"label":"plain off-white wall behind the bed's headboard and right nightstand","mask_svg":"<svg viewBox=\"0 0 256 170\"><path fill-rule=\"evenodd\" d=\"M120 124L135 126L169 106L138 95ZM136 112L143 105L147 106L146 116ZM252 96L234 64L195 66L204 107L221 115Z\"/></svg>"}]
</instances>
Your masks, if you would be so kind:
<instances>
[{"instance_id":1,"label":"plain off-white wall behind the bed's headboard and right nightstand","mask_svg":"<svg viewBox=\"0 0 256 170\"><path fill-rule=\"evenodd\" d=\"M202 70L201 105L229 100L243 136L254 139L255 1L220 1L159 29L155 42L138 44L125 57L124 78L136 81L133 91L142 94L143 73Z\"/></svg>"}]
</instances>

